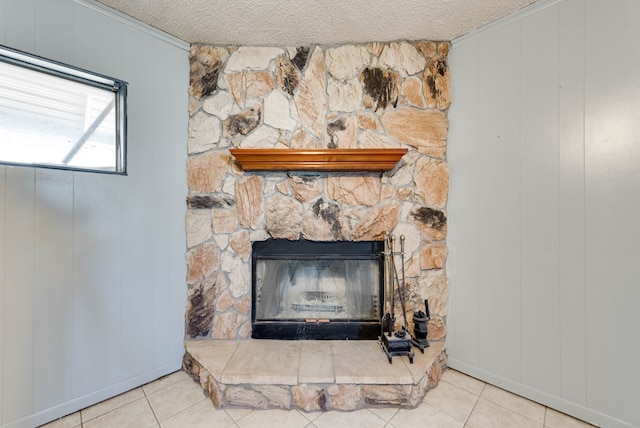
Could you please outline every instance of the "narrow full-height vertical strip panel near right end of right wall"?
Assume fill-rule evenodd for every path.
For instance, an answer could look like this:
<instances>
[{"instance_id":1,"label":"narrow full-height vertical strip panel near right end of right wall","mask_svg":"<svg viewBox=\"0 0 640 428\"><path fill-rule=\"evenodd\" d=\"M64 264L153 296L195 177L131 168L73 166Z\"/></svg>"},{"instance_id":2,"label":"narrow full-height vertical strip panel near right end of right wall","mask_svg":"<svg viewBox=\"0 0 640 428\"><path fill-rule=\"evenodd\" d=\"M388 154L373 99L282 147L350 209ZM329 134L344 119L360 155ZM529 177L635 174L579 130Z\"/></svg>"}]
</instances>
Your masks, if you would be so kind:
<instances>
[{"instance_id":1,"label":"narrow full-height vertical strip panel near right end of right wall","mask_svg":"<svg viewBox=\"0 0 640 428\"><path fill-rule=\"evenodd\" d=\"M584 1L564 1L559 13L560 396L584 406Z\"/></svg>"}]
</instances>

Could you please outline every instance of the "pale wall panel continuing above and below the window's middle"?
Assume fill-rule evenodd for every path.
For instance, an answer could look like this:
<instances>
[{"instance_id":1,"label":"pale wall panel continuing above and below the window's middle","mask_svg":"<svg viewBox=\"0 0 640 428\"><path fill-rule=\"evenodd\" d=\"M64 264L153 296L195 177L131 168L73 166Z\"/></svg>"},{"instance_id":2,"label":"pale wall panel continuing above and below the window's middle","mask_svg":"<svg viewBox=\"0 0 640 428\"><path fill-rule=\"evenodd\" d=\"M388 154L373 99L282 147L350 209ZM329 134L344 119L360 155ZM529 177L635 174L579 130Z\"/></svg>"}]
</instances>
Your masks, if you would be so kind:
<instances>
[{"instance_id":1,"label":"pale wall panel continuing above and below the window's middle","mask_svg":"<svg viewBox=\"0 0 640 428\"><path fill-rule=\"evenodd\" d=\"M35 53L73 60L72 4L37 2ZM72 398L73 173L35 172L34 412ZM52 352L56 350L56 352ZM56 391L56 394L51 394Z\"/></svg>"}]
</instances>

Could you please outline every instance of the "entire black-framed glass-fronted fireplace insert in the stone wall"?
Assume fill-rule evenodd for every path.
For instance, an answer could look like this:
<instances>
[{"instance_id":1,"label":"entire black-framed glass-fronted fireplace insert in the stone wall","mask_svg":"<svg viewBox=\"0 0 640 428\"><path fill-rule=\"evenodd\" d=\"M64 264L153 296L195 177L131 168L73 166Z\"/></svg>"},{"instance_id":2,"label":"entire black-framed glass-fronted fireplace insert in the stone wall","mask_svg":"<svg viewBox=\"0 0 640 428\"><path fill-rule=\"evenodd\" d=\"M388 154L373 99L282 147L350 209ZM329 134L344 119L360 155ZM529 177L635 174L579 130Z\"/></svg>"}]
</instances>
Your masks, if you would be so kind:
<instances>
[{"instance_id":1,"label":"entire black-framed glass-fronted fireplace insert in the stone wall","mask_svg":"<svg viewBox=\"0 0 640 428\"><path fill-rule=\"evenodd\" d=\"M252 253L252 337L376 339L383 243L268 240Z\"/></svg>"}]
</instances>

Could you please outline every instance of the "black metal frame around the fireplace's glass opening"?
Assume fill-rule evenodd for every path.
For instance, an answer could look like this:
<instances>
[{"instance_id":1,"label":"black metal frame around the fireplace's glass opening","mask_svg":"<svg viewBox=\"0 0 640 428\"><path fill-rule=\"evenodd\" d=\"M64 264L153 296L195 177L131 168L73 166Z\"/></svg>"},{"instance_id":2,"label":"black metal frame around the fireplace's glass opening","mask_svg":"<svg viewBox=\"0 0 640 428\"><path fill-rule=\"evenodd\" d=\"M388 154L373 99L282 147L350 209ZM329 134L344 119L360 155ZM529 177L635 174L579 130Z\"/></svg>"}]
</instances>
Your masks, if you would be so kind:
<instances>
[{"instance_id":1,"label":"black metal frame around the fireplace's glass opening","mask_svg":"<svg viewBox=\"0 0 640 428\"><path fill-rule=\"evenodd\" d=\"M282 340L375 340L382 329L384 308L383 241L256 241L251 253L251 337ZM375 260L378 264L378 314L376 320L257 320L256 266L259 260L345 259Z\"/></svg>"}]
</instances>

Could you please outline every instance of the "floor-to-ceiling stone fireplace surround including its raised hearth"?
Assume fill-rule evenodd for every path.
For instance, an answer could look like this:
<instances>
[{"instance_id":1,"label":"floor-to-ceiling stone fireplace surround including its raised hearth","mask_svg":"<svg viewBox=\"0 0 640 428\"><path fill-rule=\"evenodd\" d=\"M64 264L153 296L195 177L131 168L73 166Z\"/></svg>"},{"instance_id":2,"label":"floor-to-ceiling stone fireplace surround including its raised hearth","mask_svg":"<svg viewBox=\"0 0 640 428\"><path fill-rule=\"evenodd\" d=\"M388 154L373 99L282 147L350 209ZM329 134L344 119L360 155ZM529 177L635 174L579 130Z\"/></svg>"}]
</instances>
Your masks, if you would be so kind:
<instances>
[{"instance_id":1,"label":"floor-to-ceiling stone fireplace surround including its raised hearth","mask_svg":"<svg viewBox=\"0 0 640 428\"><path fill-rule=\"evenodd\" d=\"M184 366L216 406L412 407L437 383L446 366L449 47L192 46ZM404 154L381 168L361 159L372 149ZM333 162L344 150L359 158L355 166ZM323 152L321 167L308 151ZM387 232L406 237L407 306L395 307L397 322L408 314L411 329L414 309L429 299L431 346L414 364L389 364L376 340L252 339L254 243L380 241ZM300 272L313 270L298 262ZM346 282L331 269L316 266ZM300 275L295 287L312 282ZM343 305L304 296L287 306ZM305 316L326 330L328 316Z\"/></svg>"}]
</instances>

